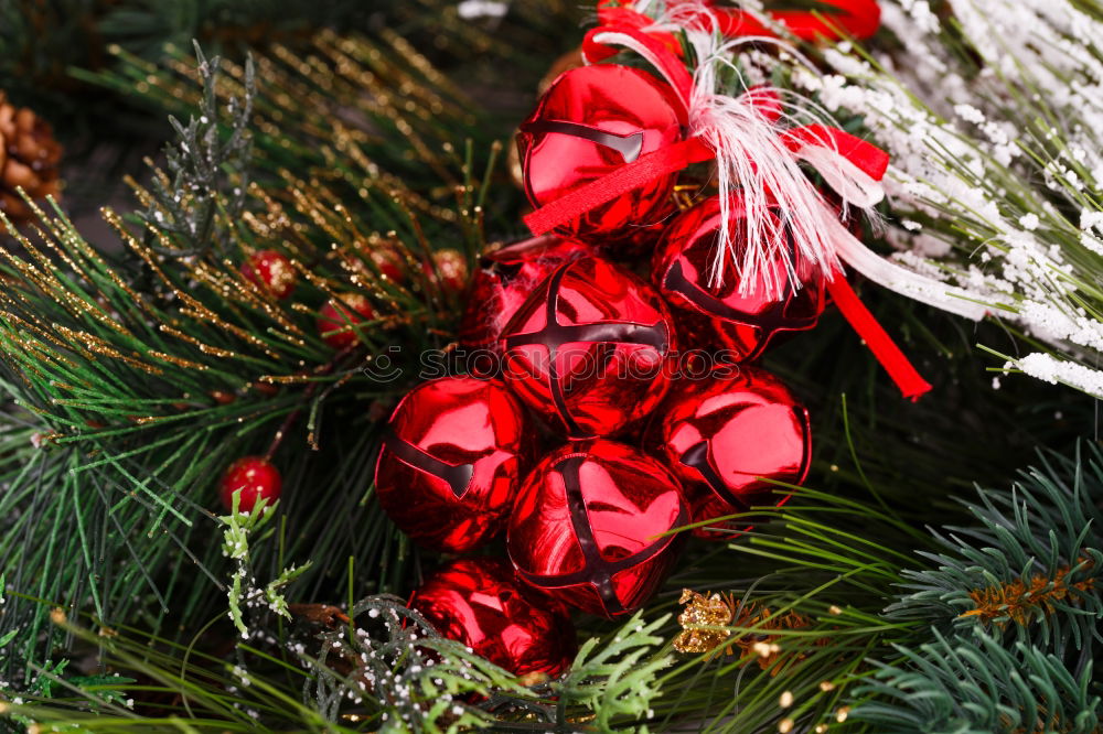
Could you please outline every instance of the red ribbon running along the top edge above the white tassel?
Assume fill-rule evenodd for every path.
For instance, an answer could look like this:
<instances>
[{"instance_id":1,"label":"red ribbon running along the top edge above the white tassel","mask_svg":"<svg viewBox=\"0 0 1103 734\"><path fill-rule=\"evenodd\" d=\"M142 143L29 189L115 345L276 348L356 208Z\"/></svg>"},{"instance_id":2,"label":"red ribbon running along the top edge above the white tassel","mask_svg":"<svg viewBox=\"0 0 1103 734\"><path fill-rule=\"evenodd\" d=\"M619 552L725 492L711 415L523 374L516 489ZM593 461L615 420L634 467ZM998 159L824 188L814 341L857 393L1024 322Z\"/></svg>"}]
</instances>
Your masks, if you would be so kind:
<instances>
[{"instance_id":1,"label":"red ribbon running along the top edge above the white tassel","mask_svg":"<svg viewBox=\"0 0 1103 734\"><path fill-rule=\"evenodd\" d=\"M687 4L694 0L668 0L671 6ZM780 23L802 41L815 41L824 39L837 41L843 36L849 36L859 41L874 35L881 24L881 9L877 0L822 0L825 6L835 9L835 12L814 12L808 10L777 10L768 11L774 21ZM632 10L631 2L613 4L617 0L599 0L598 20L602 25L632 25L634 28L646 28L654 21L643 13ZM718 8L713 2L706 2L711 10L711 14L719 24L719 32L728 37L739 37L748 35L759 35L777 37L773 29L763 25L762 22L743 10L738 8ZM681 54L681 47L670 33L655 33L655 37L662 39L664 44L671 46L676 54ZM673 42L673 44L672 44Z\"/></svg>"}]
</instances>

